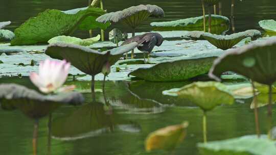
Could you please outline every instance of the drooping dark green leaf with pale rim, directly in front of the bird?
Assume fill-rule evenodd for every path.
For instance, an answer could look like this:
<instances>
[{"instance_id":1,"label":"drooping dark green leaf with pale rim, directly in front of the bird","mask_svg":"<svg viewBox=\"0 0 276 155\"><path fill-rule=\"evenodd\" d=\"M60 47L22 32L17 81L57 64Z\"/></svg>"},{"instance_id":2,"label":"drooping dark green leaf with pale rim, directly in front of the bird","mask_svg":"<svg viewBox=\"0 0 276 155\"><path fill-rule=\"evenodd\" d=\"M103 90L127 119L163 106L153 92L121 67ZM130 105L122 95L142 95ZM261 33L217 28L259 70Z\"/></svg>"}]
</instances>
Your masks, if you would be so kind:
<instances>
[{"instance_id":1,"label":"drooping dark green leaf with pale rim, directly in front of the bird","mask_svg":"<svg viewBox=\"0 0 276 155\"><path fill-rule=\"evenodd\" d=\"M124 53L136 46L137 43L133 42L101 53L84 46L55 43L47 47L45 54L54 59L65 59L80 71L89 75L96 75L102 71L102 67L107 61L113 65Z\"/></svg>"}]
</instances>

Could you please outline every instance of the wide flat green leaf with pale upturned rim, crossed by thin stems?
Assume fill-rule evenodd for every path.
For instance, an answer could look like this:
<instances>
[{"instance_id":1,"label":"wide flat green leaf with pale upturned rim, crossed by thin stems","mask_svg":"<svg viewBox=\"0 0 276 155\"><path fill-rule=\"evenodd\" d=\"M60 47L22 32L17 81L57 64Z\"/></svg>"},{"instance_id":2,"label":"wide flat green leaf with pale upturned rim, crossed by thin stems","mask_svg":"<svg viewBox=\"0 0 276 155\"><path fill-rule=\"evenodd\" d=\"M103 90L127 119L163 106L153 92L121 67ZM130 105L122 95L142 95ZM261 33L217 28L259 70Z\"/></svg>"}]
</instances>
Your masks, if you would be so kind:
<instances>
[{"instance_id":1,"label":"wide flat green leaf with pale upturned rim, crossed by thin stems","mask_svg":"<svg viewBox=\"0 0 276 155\"><path fill-rule=\"evenodd\" d=\"M208 17L208 15L205 15ZM212 15L212 26L228 25L229 19L225 16ZM203 16L179 19L173 21L152 22L150 25L154 30L193 30L193 28L203 29ZM206 23L208 26L208 23Z\"/></svg>"}]
</instances>

